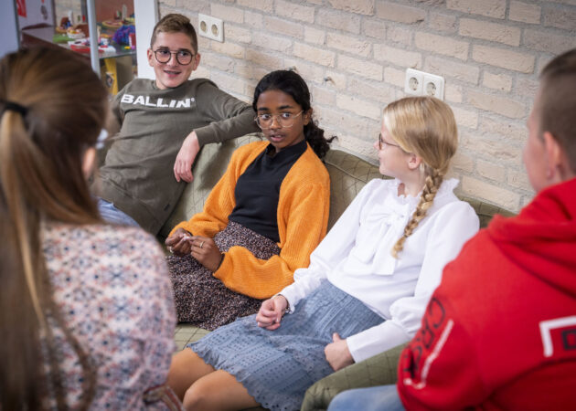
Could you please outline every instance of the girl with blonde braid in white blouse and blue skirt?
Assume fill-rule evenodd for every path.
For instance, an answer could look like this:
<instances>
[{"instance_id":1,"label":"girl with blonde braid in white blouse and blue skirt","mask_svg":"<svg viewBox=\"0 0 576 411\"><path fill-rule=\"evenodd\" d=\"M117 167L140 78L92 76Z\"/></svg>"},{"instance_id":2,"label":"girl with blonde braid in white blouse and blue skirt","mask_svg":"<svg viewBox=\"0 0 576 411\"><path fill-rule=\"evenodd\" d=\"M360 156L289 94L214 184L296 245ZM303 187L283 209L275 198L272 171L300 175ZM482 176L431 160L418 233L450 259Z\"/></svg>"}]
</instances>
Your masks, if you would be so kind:
<instances>
[{"instance_id":1,"label":"girl with blonde braid in white blouse and blue skirt","mask_svg":"<svg viewBox=\"0 0 576 411\"><path fill-rule=\"evenodd\" d=\"M176 354L168 384L187 409L300 409L315 381L409 341L444 265L478 229L457 180L444 179L457 141L443 101L390 103L374 146L394 178L370 181L258 314Z\"/></svg>"}]
</instances>

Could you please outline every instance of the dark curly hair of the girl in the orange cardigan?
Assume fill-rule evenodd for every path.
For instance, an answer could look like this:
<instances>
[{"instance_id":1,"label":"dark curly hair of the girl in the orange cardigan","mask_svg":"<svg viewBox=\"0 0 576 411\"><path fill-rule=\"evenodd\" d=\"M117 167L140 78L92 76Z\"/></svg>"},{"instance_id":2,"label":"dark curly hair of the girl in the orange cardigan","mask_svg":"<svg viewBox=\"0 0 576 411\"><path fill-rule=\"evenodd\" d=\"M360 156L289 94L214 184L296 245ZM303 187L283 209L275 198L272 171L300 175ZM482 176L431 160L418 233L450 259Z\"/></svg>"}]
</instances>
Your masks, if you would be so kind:
<instances>
[{"instance_id":1,"label":"dark curly hair of the girl in the orange cardigan","mask_svg":"<svg viewBox=\"0 0 576 411\"><path fill-rule=\"evenodd\" d=\"M252 108L258 111L256 103L261 93L268 90L280 90L289 94L294 101L296 101L302 110L309 111L312 107L310 105L310 91L306 82L299 74L290 70L276 70L265 75L256 86L254 90L254 100L252 101ZM312 150L321 159L324 158L328 150L330 150L330 142L336 137L326 139L324 137L324 130L322 130L315 121L310 120L304 126L304 137L306 142L310 144Z\"/></svg>"}]
</instances>

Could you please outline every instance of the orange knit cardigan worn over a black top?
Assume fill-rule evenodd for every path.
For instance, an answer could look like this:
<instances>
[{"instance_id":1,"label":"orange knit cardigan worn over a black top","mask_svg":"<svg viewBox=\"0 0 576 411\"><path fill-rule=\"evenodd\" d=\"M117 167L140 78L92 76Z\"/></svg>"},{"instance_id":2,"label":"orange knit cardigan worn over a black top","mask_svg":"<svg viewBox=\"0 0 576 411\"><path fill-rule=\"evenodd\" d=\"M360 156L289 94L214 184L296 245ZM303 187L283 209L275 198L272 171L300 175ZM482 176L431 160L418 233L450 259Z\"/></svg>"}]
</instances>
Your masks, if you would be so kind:
<instances>
[{"instance_id":1,"label":"orange knit cardigan worn over a black top","mask_svg":"<svg viewBox=\"0 0 576 411\"><path fill-rule=\"evenodd\" d=\"M214 237L228 225L236 205L238 178L268 142L252 142L232 154L226 173L214 186L204 211L178 224L195 236ZM264 260L246 248L232 247L225 253L214 277L230 290L256 299L270 298L293 283L295 269L308 267L310 254L325 237L330 205L330 177L310 145L283 179L277 219L280 255Z\"/></svg>"}]
</instances>

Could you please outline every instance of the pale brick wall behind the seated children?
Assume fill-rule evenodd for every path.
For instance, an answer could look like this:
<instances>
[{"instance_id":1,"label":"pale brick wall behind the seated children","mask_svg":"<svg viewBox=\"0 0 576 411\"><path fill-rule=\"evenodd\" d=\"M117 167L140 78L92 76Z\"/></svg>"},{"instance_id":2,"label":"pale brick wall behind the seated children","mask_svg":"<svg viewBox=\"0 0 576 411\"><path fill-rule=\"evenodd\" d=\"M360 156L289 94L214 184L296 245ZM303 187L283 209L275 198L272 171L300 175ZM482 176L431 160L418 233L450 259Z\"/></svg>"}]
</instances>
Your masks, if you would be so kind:
<instances>
[{"instance_id":1,"label":"pale brick wall behind the seated children","mask_svg":"<svg viewBox=\"0 0 576 411\"><path fill-rule=\"evenodd\" d=\"M160 0L197 26L224 20L225 42L199 37L194 76L251 101L261 76L294 68L338 144L376 163L381 109L404 96L406 68L445 78L460 146L460 192L517 211L533 192L522 164L539 70L576 47L576 0Z\"/></svg>"}]
</instances>

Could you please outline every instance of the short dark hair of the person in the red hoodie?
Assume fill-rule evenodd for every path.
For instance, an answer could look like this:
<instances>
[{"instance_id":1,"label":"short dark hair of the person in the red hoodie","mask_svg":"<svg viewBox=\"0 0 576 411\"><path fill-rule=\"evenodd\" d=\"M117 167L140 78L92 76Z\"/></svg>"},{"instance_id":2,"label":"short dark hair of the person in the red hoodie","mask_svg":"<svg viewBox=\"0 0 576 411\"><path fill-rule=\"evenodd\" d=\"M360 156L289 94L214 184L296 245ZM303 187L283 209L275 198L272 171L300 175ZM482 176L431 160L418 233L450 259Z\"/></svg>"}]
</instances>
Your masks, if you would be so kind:
<instances>
[{"instance_id":1,"label":"short dark hair of the person in the red hoodie","mask_svg":"<svg viewBox=\"0 0 576 411\"><path fill-rule=\"evenodd\" d=\"M540 73L539 134L550 132L576 173L576 48L553 58Z\"/></svg>"}]
</instances>

